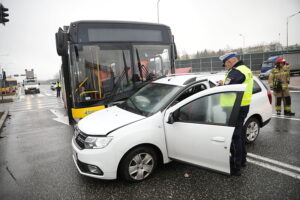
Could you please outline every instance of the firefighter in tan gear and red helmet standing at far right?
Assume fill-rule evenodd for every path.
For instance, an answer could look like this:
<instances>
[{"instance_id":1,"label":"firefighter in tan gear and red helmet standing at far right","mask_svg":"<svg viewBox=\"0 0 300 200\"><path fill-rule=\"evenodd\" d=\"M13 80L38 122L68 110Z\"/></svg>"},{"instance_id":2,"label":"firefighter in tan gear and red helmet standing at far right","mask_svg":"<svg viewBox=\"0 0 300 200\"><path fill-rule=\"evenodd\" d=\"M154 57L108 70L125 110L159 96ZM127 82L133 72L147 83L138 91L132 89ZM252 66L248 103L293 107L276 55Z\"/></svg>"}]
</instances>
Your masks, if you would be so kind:
<instances>
[{"instance_id":1,"label":"firefighter in tan gear and red helmet standing at far right","mask_svg":"<svg viewBox=\"0 0 300 200\"><path fill-rule=\"evenodd\" d=\"M289 83L289 67L285 65L285 59L279 57L275 61L275 68L272 69L269 75L269 86L275 96L275 110L277 115L281 115L281 101L283 101L284 104L284 115L295 115L295 113L291 112L291 96L288 89Z\"/></svg>"}]
</instances>

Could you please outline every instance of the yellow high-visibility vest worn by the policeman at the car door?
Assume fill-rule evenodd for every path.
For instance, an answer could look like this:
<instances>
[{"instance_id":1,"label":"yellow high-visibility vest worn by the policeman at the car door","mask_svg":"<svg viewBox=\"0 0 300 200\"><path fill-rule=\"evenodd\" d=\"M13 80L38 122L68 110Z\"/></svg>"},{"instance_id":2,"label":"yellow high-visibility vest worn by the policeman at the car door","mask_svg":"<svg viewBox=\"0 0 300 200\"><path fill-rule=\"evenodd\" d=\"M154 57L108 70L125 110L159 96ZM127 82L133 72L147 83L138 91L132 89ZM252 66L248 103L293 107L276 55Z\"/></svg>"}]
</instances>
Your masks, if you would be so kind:
<instances>
[{"instance_id":1,"label":"yellow high-visibility vest worn by the policeman at the car door","mask_svg":"<svg viewBox=\"0 0 300 200\"><path fill-rule=\"evenodd\" d=\"M251 99L252 99L252 91L253 91L253 75L251 70L245 66L245 65L240 65L236 68L237 70L239 70L241 73L244 74L245 76L245 80L242 84L246 84L246 89L242 98L242 102L241 102L241 106L248 106L251 103ZM230 70L231 71L231 70ZM226 82L227 76L229 74L229 72L226 74L225 79L224 79L224 83ZM232 107L234 102L236 99L236 95L235 94L222 94L221 95L221 106L222 107Z\"/></svg>"}]
</instances>

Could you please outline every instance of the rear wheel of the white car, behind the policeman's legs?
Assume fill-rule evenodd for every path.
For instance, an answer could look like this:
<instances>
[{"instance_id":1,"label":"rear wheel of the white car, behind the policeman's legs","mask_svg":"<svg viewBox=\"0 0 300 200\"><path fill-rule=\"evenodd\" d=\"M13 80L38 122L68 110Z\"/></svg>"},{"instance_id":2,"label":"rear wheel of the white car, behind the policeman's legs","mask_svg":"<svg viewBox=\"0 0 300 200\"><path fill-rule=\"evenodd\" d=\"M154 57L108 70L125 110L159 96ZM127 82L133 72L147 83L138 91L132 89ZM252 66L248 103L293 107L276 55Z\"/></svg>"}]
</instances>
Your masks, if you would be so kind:
<instances>
[{"instance_id":1,"label":"rear wheel of the white car, behind the policeman's legs","mask_svg":"<svg viewBox=\"0 0 300 200\"><path fill-rule=\"evenodd\" d=\"M260 132L260 123L258 119L255 117L251 117L247 120L245 124L245 131L246 131L246 143L251 144L253 143Z\"/></svg>"}]
</instances>

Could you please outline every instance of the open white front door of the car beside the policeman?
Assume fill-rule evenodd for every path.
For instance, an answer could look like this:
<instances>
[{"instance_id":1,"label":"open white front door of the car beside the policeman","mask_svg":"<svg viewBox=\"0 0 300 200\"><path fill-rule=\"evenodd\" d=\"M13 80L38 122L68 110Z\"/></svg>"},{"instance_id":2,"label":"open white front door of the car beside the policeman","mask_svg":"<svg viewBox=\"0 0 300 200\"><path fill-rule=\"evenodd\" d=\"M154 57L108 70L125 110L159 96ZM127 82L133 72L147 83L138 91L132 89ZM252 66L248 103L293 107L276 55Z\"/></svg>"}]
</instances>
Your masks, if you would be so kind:
<instances>
[{"instance_id":1,"label":"open white front door of the car beside the policeman","mask_svg":"<svg viewBox=\"0 0 300 200\"><path fill-rule=\"evenodd\" d=\"M214 87L169 107L164 115L169 157L230 173L230 145L246 85Z\"/></svg>"}]
</instances>

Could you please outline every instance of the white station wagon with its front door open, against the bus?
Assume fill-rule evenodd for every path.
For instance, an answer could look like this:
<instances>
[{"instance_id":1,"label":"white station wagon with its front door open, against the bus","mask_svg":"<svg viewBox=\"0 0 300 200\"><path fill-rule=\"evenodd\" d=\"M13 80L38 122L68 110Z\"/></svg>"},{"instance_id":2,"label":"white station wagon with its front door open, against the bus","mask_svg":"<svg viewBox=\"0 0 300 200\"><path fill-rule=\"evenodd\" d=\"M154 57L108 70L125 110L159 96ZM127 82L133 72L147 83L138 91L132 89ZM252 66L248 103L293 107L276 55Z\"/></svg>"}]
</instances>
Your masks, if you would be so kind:
<instances>
[{"instance_id":1,"label":"white station wagon with its front door open, against the bus","mask_svg":"<svg viewBox=\"0 0 300 200\"><path fill-rule=\"evenodd\" d=\"M128 181L148 178L158 163L178 160L230 173L230 144L245 85L215 87L224 75L170 75L118 106L79 121L73 159L82 175ZM230 109L220 99L232 95ZM271 93L255 78L246 119L248 142L271 119Z\"/></svg>"}]
</instances>

